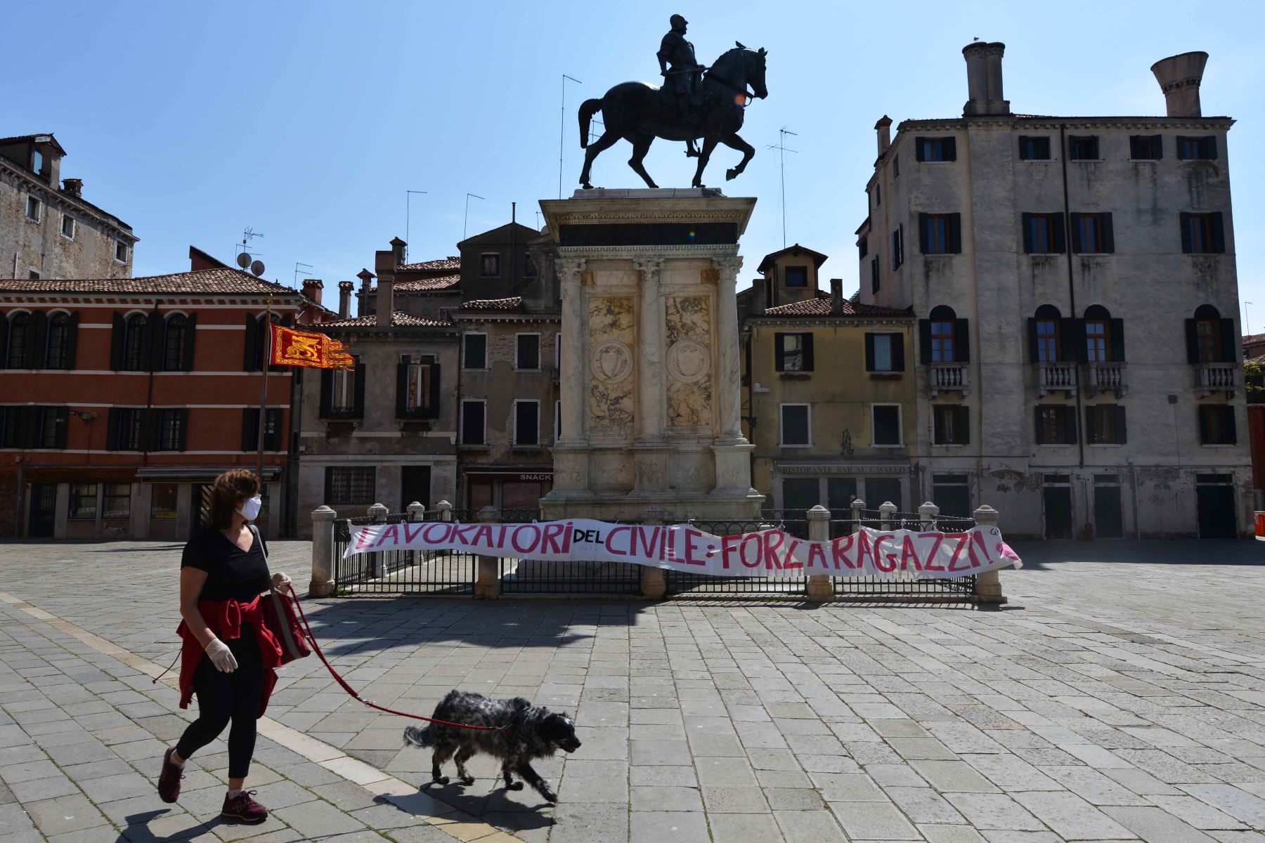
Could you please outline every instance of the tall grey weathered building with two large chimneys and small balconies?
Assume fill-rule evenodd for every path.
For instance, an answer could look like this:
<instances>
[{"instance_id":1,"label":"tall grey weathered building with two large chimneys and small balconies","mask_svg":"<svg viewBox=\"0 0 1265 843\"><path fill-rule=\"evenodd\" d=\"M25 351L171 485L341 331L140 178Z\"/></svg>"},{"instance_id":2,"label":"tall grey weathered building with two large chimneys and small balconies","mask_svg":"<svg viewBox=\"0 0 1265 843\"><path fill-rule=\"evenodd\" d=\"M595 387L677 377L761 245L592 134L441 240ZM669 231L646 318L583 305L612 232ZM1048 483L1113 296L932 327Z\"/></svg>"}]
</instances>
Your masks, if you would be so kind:
<instances>
[{"instance_id":1,"label":"tall grey weathered building with two large chimneys and small balconies","mask_svg":"<svg viewBox=\"0 0 1265 843\"><path fill-rule=\"evenodd\" d=\"M1059 118L1011 112L1002 44L963 53L961 118L878 123L858 230L860 301L922 317L917 497L965 487L1011 536L1246 532L1233 121L1200 112L1207 54L1151 68L1166 116Z\"/></svg>"}]
</instances>

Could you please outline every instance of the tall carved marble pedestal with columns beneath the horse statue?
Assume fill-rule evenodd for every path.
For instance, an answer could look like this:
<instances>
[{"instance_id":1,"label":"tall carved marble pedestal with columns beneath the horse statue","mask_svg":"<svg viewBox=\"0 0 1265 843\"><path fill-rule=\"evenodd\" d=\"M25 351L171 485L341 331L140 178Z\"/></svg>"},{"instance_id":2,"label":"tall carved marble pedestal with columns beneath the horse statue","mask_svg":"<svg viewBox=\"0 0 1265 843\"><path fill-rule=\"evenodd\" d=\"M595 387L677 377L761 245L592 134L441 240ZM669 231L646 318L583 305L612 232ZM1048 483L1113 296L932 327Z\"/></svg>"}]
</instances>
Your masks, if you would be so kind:
<instances>
[{"instance_id":1,"label":"tall carved marble pedestal with columns beneath the horse statue","mask_svg":"<svg viewBox=\"0 0 1265 843\"><path fill-rule=\"evenodd\" d=\"M754 198L592 190L540 202L562 279L562 436L545 518L755 518L739 421L737 240Z\"/></svg>"}]
</instances>

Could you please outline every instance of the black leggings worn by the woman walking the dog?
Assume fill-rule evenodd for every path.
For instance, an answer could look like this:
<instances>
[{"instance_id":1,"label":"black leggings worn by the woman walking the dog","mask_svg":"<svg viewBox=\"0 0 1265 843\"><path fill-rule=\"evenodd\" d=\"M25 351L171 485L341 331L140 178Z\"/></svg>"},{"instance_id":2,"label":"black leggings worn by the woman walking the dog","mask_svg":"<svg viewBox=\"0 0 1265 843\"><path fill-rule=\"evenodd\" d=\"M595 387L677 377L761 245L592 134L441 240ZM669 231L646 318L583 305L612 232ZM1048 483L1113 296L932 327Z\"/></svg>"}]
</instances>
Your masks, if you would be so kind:
<instances>
[{"instance_id":1,"label":"black leggings worn by the woman walking the dog","mask_svg":"<svg viewBox=\"0 0 1265 843\"><path fill-rule=\"evenodd\" d=\"M176 744L176 755L188 758L214 741L233 720L229 731L229 779L245 779L254 755L254 727L259 717L259 695L263 693L263 662L254 629L242 624L242 637L226 641L238 669L223 674L209 656L202 656L194 671L194 693L197 694L197 719L188 724Z\"/></svg>"}]
</instances>

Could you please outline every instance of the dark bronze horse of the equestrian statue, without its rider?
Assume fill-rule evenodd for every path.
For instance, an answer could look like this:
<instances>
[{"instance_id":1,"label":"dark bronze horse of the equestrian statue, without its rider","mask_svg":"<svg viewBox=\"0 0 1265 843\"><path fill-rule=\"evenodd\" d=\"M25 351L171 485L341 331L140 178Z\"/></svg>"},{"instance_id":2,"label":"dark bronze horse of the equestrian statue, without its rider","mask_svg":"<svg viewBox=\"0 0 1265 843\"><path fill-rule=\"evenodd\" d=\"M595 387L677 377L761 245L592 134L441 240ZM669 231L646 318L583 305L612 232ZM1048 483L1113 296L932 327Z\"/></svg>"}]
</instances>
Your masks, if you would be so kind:
<instances>
[{"instance_id":1,"label":"dark bronze horse of the equestrian statue, without its rider","mask_svg":"<svg viewBox=\"0 0 1265 843\"><path fill-rule=\"evenodd\" d=\"M737 167L727 169L725 178L734 178L741 173L755 154L755 148L737 136L737 130L743 128L743 110L753 96L746 86L750 85L754 96L762 100L769 95L764 86L767 56L763 48L755 51L737 44L717 58L703 72L702 105L697 109L700 120L694 124L683 123L677 107L665 102L659 88L648 82L622 82L600 100L586 100L579 106L579 145L584 148L584 169L579 173L581 186L586 190L592 187L588 178L593 159L620 138L632 144L629 166L650 187L658 185L650 178L650 173L645 172L641 162L655 138L684 142L702 139L694 187L703 186L703 169L717 143L743 153L743 161ZM598 111L602 112L606 130L601 138L589 144L588 124Z\"/></svg>"}]
</instances>

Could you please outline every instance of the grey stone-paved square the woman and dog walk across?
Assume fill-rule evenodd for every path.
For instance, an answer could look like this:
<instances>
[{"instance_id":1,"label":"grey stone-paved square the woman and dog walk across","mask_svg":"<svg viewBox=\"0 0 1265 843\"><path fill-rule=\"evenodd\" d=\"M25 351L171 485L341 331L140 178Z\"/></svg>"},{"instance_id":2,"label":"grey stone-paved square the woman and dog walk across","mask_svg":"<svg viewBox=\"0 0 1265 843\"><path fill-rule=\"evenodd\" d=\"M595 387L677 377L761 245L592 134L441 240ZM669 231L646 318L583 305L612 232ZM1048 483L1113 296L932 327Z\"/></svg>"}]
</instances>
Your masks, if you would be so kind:
<instances>
[{"instance_id":1,"label":"grey stone-paved square the woman and dog walk across","mask_svg":"<svg viewBox=\"0 0 1265 843\"><path fill-rule=\"evenodd\" d=\"M276 825L248 829L206 822L223 746L195 757L177 810L158 801L162 742L188 713L101 652L171 658L178 546L0 545L0 589L35 607L0 603L0 823L85 840L1265 842L1265 546L1018 551L1001 610L312 602L366 696L428 713L454 686L521 694L573 712L584 746L540 765L555 809L500 790L482 757L473 786L429 800L407 786L429 757L401 748L404 722L307 658L268 710L297 751L262 741L249 782ZM277 542L273 564L306 583L306 552ZM388 777L354 784L371 768Z\"/></svg>"}]
</instances>

